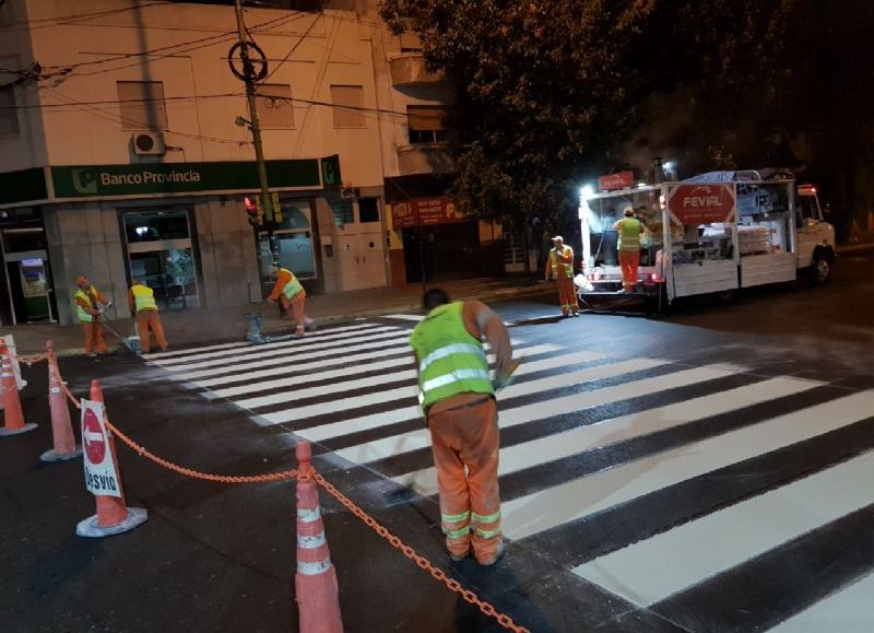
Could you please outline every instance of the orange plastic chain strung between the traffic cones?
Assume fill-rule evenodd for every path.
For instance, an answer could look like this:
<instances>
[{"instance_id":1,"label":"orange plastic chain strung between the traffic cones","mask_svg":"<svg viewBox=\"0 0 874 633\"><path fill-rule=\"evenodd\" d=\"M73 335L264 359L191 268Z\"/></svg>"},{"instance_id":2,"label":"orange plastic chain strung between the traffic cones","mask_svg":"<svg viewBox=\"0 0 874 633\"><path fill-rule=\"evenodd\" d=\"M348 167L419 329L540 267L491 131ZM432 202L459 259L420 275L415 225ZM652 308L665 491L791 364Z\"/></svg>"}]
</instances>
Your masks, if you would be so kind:
<instances>
[{"instance_id":1,"label":"orange plastic chain strung between the traffic cones","mask_svg":"<svg viewBox=\"0 0 874 633\"><path fill-rule=\"evenodd\" d=\"M81 402L67 388L67 384L61 379L60 373L55 363L50 363L49 366L51 367L51 372L55 375L56 379L58 380L58 384L61 385L61 388L63 389L64 394L67 394L67 397L72 401L73 405L75 405L76 409L81 408ZM336 501L339 501L342 505L347 507L352 512L352 514L354 514L362 521L364 521L365 525L367 525L369 528L376 531L376 534L378 534L380 537L386 539L389 542L389 544L391 544L391 547L400 550L403 553L403 555L413 561L420 568L428 572L436 581L444 583L447 586L447 588L449 588L450 591L460 595L466 602L475 605L480 609L480 611L482 611L485 616L488 616L489 618L494 618L498 622L498 624L500 624L505 629L513 631L515 633L531 633L524 626L516 624L512 621L512 618L510 618L509 616L505 613L498 613L497 609L495 609L495 607L491 602L481 600L476 594L474 594L470 589L465 589L464 587L462 587L461 583L459 583L454 578L450 578L449 576L447 576L446 572L444 572L439 567L435 567L430 561L428 561L425 556L416 552L412 547L404 544L404 542L400 538L391 534L386 527L380 525L374 517L368 515L361 507L358 507L352 500L350 500L346 495L344 495L336 488L334 488L334 485L331 482L329 482L321 474L316 472L316 470L312 468L311 465L305 471L291 469L291 470L283 470L280 472L271 472L268 474L249 474L249 476L212 474L210 472L200 472L197 470L192 470L185 466L179 466L178 464L168 461L163 457L158 457L147 448L137 444L133 439L131 439L125 433L119 431L119 429L108 420L106 420L106 427L109 429L109 431L116 437L121 439L121 442L127 444L132 450L134 450L141 457L151 459L158 466L163 466L168 470L173 470L175 472L178 472L179 474L184 474L194 479L201 479L204 481L215 481L218 483L264 483L269 481L285 481L290 479L299 479L302 481L309 481L310 479L315 480L316 483L321 485L326 490L326 492L328 492L328 494L336 499Z\"/></svg>"}]
</instances>

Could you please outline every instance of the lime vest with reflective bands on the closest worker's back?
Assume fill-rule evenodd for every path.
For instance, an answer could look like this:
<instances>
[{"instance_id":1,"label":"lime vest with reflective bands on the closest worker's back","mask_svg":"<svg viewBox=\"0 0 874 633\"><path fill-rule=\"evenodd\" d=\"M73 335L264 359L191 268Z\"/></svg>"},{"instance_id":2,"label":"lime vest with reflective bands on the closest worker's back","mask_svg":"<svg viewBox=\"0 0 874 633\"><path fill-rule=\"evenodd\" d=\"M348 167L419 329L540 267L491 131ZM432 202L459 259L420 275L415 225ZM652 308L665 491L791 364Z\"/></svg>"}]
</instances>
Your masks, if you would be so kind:
<instances>
[{"instance_id":1,"label":"lime vest with reflective bands on the closest worker's back","mask_svg":"<svg viewBox=\"0 0 874 633\"><path fill-rule=\"evenodd\" d=\"M464 328L464 304L434 308L410 336L420 360L420 402L427 411L434 402L457 394L494 394L483 344Z\"/></svg>"}]
</instances>

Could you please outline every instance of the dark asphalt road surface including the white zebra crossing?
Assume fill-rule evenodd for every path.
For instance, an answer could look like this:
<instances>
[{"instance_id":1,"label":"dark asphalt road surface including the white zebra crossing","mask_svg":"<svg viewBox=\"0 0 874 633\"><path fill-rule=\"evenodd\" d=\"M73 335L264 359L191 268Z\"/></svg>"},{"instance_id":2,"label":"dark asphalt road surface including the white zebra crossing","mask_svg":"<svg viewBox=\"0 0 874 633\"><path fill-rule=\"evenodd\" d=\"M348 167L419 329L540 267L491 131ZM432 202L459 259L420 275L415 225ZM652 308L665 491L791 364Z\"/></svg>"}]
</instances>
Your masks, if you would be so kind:
<instances>
[{"instance_id":1,"label":"dark asphalt road surface including the white zebra crossing","mask_svg":"<svg viewBox=\"0 0 874 633\"><path fill-rule=\"evenodd\" d=\"M417 315L303 341L62 360L78 395L155 454L215 473L294 467L339 490L531 631L874 630L874 260L823 288L758 289L649 318L630 300L562 319L545 295L495 307L523 359L499 394L510 546L450 563L406 337ZM615 314L607 314L614 312ZM292 482L225 485L119 447L150 519L102 540L81 461L50 447L45 367L0 438L0 622L8 631L296 631ZM321 491L345 630L499 631Z\"/></svg>"}]
</instances>

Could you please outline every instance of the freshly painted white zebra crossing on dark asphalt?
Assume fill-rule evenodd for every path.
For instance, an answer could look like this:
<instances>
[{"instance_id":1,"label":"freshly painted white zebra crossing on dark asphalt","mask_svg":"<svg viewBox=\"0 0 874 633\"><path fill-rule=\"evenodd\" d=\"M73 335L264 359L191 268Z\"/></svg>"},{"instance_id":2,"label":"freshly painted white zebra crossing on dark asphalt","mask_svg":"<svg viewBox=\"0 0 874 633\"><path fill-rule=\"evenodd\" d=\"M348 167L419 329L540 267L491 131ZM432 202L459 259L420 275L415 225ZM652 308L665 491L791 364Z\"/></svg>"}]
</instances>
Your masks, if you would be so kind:
<instances>
[{"instance_id":1,"label":"freshly painted white zebra crossing on dark asphalt","mask_svg":"<svg viewBox=\"0 0 874 633\"><path fill-rule=\"evenodd\" d=\"M406 342L415 320L145 357L258 424L429 496L436 472ZM689 631L874 630L864 607L874 596L874 390L617 357L517 331L524 362L498 395L508 538ZM832 544L829 573L775 571L791 553L827 549L832 534L854 536ZM763 607L767 583L782 607ZM711 605L707 616L700 605Z\"/></svg>"}]
</instances>

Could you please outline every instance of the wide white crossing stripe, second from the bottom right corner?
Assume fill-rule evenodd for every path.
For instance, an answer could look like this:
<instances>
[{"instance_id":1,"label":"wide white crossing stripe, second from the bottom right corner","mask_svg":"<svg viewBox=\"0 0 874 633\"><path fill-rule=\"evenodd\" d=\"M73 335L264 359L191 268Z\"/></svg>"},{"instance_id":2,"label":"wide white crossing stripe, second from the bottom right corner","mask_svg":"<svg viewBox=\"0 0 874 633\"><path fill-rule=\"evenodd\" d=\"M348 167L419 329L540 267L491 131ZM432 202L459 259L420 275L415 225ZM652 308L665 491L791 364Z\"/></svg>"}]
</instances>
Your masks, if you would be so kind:
<instances>
[{"instance_id":1,"label":"wide white crossing stripe, second from the bottom right corner","mask_svg":"<svg viewBox=\"0 0 874 633\"><path fill-rule=\"evenodd\" d=\"M574 573L635 605L658 602L874 503L872 472L874 452L869 452L579 565Z\"/></svg>"}]
</instances>

